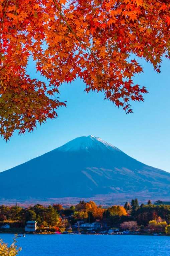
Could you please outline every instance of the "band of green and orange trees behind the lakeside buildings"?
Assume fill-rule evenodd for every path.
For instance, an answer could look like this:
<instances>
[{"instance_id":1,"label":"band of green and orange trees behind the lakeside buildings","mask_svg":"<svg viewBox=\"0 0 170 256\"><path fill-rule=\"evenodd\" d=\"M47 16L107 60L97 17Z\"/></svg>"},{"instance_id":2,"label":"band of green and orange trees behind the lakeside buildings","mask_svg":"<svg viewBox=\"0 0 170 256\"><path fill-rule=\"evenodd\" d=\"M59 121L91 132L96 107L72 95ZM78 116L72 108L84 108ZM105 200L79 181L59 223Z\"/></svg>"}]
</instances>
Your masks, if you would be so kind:
<instances>
[{"instance_id":1,"label":"band of green and orange trees behind the lakeside buildings","mask_svg":"<svg viewBox=\"0 0 170 256\"><path fill-rule=\"evenodd\" d=\"M64 216L70 217L66 220ZM98 221L103 227L123 227L123 223L133 221L141 230L145 227L156 230L156 226L163 226L165 230L165 227L170 224L170 205L154 205L150 200L147 204L139 205L135 198L130 203L126 202L124 207L113 205L108 208L97 206L93 201L80 201L69 208L64 208L61 204L48 207L37 204L25 209L18 206L0 206L1 223L14 223L15 226L20 223L24 226L27 221L34 220L40 228L58 227L60 229L68 226L68 223L70 225L83 220L88 223ZM158 225L158 223L163 224Z\"/></svg>"}]
</instances>

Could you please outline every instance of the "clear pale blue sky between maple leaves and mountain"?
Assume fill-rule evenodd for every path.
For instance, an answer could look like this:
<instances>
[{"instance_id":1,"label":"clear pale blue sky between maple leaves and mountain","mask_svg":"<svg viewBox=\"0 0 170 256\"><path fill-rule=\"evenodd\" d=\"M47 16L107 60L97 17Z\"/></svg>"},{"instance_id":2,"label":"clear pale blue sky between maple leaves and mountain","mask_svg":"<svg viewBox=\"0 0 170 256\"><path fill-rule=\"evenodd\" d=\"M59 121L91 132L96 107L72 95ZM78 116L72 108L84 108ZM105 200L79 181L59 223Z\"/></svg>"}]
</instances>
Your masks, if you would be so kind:
<instances>
[{"instance_id":1,"label":"clear pale blue sky between maple leaves and mountain","mask_svg":"<svg viewBox=\"0 0 170 256\"><path fill-rule=\"evenodd\" d=\"M7 170L49 152L80 136L94 135L118 147L129 156L153 167L170 172L170 60L163 60L161 74L141 60L144 73L135 83L144 85L150 94L144 103L132 103L133 114L104 101L102 93L84 92L77 80L60 87L61 100L56 120L38 125L33 133L18 135L10 141L0 139L0 171ZM28 72L39 78L32 63Z\"/></svg>"}]
</instances>

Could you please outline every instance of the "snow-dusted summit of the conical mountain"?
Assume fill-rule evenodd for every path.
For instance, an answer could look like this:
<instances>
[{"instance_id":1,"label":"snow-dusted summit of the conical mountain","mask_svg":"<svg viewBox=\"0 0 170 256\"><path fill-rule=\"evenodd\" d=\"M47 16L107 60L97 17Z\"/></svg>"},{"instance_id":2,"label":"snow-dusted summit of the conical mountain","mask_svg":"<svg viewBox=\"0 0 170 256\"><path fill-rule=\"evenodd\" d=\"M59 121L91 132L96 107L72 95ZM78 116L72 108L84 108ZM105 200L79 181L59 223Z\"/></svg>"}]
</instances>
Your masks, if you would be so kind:
<instances>
[{"instance_id":1,"label":"snow-dusted summit of the conical mountain","mask_svg":"<svg viewBox=\"0 0 170 256\"><path fill-rule=\"evenodd\" d=\"M87 137L78 137L76 139L73 139L66 143L65 145L55 149L59 151L79 151L79 150L85 150L85 151L92 151L92 150L118 150L118 148L114 147L110 143L107 143L106 141L95 137L93 135L89 135Z\"/></svg>"}]
</instances>

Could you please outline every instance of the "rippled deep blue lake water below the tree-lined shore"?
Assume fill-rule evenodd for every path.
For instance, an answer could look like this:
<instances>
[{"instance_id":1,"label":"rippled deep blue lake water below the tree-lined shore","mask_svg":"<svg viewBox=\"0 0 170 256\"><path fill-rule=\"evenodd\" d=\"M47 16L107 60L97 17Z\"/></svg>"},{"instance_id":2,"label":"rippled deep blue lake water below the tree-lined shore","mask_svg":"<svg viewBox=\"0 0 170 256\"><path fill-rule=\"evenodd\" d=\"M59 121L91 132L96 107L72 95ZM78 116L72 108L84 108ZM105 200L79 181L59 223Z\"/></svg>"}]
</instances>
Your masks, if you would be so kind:
<instances>
[{"instance_id":1,"label":"rippled deep blue lake water below the tree-lined shore","mask_svg":"<svg viewBox=\"0 0 170 256\"><path fill-rule=\"evenodd\" d=\"M0 234L12 244L13 234ZM139 235L26 235L17 238L20 256L165 256L170 237Z\"/></svg>"}]
</instances>

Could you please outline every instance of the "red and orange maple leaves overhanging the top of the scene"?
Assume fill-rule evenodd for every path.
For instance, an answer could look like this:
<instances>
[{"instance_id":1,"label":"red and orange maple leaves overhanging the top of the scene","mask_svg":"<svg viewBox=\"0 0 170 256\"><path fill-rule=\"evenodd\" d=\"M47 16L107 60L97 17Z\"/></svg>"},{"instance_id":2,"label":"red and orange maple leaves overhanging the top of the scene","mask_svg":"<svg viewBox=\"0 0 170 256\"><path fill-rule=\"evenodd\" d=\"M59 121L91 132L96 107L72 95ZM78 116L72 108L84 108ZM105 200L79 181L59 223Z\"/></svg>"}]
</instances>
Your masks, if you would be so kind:
<instances>
[{"instance_id":1,"label":"red and orange maple leaves overhanging the top of the scene","mask_svg":"<svg viewBox=\"0 0 170 256\"><path fill-rule=\"evenodd\" d=\"M59 86L77 77L86 92L132 112L129 101L147 90L133 83L142 67L131 56L160 72L170 57L170 0L0 0L1 136L57 117ZM30 59L46 83L27 74Z\"/></svg>"}]
</instances>

